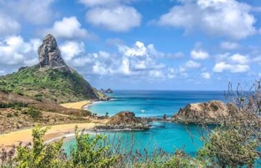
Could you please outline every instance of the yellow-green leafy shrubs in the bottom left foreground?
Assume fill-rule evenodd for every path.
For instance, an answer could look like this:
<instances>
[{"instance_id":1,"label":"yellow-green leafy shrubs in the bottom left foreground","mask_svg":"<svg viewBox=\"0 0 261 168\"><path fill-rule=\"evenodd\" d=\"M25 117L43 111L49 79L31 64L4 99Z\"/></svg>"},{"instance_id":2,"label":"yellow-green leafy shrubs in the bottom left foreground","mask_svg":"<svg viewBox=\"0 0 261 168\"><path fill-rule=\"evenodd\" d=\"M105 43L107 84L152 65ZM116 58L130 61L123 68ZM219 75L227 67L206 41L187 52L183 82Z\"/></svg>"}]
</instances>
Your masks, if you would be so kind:
<instances>
[{"instance_id":1,"label":"yellow-green leafy shrubs in the bottom left foreground","mask_svg":"<svg viewBox=\"0 0 261 168\"><path fill-rule=\"evenodd\" d=\"M1 167L41 168L41 167L111 167L117 160L108 154L109 146L104 145L104 136L90 138L88 134L75 129L77 146L72 147L67 158L62 150L63 139L54 143L44 143L43 136L48 128L41 129L38 125L32 131L32 147L30 144L17 147L10 151L0 152Z\"/></svg>"}]
</instances>

